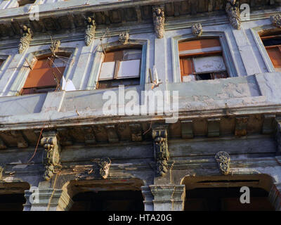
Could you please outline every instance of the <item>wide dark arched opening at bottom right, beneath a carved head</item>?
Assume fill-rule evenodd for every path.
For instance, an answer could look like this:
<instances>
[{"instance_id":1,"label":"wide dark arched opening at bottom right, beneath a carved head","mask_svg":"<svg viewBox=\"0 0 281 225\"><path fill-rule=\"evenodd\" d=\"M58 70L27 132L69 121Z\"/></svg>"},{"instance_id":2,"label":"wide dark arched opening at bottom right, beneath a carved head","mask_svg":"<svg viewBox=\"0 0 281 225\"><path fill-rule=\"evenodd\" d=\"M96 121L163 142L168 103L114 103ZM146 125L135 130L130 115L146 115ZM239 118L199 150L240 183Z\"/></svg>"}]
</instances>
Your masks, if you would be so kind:
<instances>
[{"instance_id":1,"label":"wide dark arched opening at bottom right, beneath a carved head","mask_svg":"<svg viewBox=\"0 0 281 225\"><path fill-rule=\"evenodd\" d=\"M273 179L266 174L185 177L182 184L185 184L185 211L275 210L270 199ZM249 192L241 190L242 187L249 188ZM247 199L249 202L244 203Z\"/></svg>"}]
</instances>

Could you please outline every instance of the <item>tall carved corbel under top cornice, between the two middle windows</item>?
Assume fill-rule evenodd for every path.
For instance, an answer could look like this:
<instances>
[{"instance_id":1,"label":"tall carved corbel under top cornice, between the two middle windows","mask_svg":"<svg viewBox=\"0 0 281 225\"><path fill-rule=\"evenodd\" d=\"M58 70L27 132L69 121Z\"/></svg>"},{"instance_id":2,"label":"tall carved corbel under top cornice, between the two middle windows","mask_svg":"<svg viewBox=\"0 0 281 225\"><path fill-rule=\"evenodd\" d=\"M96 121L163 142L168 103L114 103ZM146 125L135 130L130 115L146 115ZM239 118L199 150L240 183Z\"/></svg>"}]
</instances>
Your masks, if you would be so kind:
<instances>
[{"instance_id":1,"label":"tall carved corbel under top cornice, between the two middle windows","mask_svg":"<svg viewBox=\"0 0 281 225\"><path fill-rule=\"evenodd\" d=\"M165 24L164 6L153 7L152 14L156 37L162 39L164 37Z\"/></svg>"}]
</instances>

